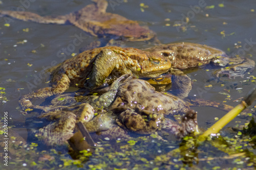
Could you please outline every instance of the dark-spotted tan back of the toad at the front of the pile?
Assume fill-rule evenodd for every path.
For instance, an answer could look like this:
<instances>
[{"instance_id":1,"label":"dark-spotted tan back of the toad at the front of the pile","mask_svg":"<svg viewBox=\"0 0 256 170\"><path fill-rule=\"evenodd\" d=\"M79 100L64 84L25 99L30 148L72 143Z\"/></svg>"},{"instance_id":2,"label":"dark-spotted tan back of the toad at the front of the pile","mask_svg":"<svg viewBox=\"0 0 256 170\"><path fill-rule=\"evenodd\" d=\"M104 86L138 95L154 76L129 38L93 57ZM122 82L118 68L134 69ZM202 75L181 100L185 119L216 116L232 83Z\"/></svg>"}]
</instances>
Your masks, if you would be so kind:
<instances>
[{"instance_id":1,"label":"dark-spotted tan back of the toad at the front of the pile","mask_svg":"<svg viewBox=\"0 0 256 170\"><path fill-rule=\"evenodd\" d=\"M117 98L111 108L140 108L163 114L186 113L189 106L177 96L168 92L155 91L155 88L143 80L132 79L123 83L117 92Z\"/></svg>"}]
</instances>

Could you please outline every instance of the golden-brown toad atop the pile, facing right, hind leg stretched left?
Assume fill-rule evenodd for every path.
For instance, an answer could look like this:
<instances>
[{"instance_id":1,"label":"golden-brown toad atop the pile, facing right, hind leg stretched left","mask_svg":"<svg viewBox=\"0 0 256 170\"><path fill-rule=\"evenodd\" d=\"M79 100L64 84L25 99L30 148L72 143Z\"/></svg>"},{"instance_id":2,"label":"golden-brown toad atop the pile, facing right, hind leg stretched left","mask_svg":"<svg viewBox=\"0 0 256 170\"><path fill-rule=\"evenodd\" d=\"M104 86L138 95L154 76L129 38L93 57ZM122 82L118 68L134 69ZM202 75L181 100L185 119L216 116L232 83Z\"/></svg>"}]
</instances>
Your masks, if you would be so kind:
<instances>
[{"instance_id":1,"label":"golden-brown toad atop the pile, facing right, hind leg stretched left","mask_svg":"<svg viewBox=\"0 0 256 170\"><path fill-rule=\"evenodd\" d=\"M124 74L133 74L139 78L157 77L169 68L170 61L157 53L116 46L95 48L56 66L51 74L51 87L23 95L19 105L25 111L47 111L44 107L32 105L30 100L63 93L69 86L96 89L102 84L111 84Z\"/></svg>"}]
</instances>

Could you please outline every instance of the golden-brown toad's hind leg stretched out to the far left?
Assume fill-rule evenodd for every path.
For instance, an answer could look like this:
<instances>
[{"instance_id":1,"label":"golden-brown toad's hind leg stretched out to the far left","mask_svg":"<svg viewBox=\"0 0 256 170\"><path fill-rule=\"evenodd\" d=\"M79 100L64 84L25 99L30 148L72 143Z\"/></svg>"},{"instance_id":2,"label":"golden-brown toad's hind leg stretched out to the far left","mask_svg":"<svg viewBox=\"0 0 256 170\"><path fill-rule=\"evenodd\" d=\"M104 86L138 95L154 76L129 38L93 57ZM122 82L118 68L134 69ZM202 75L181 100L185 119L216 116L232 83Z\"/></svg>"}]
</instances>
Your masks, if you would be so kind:
<instances>
[{"instance_id":1,"label":"golden-brown toad's hind leg stretched out to the far left","mask_svg":"<svg viewBox=\"0 0 256 170\"><path fill-rule=\"evenodd\" d=\"M49 109L44 106L35 106L31 103L32 99L42 99L47 98L51 95L61 94L65 92L70 85L70 79L66 74L61 74L53 77L52 87L40 88L38 90L32 91L28 94L23 95L18 103L19 106L26 112L27 109L40 109L48 111Z\"/></svg>"}]
</instances>

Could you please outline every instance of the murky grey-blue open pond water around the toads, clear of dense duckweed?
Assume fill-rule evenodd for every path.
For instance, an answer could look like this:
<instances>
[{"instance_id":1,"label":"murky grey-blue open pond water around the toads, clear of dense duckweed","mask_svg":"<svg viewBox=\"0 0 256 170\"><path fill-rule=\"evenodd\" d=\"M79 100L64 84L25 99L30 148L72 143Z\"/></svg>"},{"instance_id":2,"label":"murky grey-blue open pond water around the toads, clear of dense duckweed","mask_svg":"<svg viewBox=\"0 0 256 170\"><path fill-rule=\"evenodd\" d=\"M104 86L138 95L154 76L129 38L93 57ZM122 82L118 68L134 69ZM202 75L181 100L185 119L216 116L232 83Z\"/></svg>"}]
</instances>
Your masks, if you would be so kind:
<instances>
[{"instance_id":1,"label":"murky grey-blue open pond water around the toads, clear of dense duckweed","mask_svg":"<svg viewBox=\"0 0 256 170\"><path fill-rule=\"evenodd\" d=\"M68 14L90 4L89 1L84 2L81 0L70 0L64 3L58 0L27 2L29 4L25 5L26 11L40 15ZM127 3L114 0L113 2L121 3L117 3L118 5L113 8L109 6L108 12L117 13L132 20L142 21L157 33L162 43L185 41L207 44L230 54L243 54L245 57L256 60L256 11L253 11L256 10L256 2L253 0L205 1L203 3L204 7L200 7L200 9L195 9L194 7L199 7L199 2L201 1L189 0L182 2L128 0ZM140 3L148 6L148 8L144 9L144 12L140 9ZM222 3L224 7L219 7L219 4ZM205 7L212 5L215 6L212 9L206 9ZM24 5L18 0L2 1L0 9L16 10L19 6ZM189 17L188 23L184 23L183 16ZM48 77L43 76L40 78L40 71L44 67L50 67L51 62L62 62L62 59L57 56L57 52L72 43L75 35L81 34L84 37L83 43L80 46L76 46L72 51L72 53L77 54L80 47L97 38L72 25L42 25L14 20L10 23L10 27L6 27L5 19L0 18L0 87L6 89L6 94L3 94L3 96L6 96L8 101L0 99L0 115L3 116L4 111L8 111L11 125L15 125L16 122L23 124L27 116L20 114L17 104L18 98L30 92L30 89L35 90L48 86L45 84L48 81ZM182 31L181 27L173 27L177 22L181 23L181 26L184 26L186 30ZM27 28L29 29L28 32L24 30ZM225 36L221 34L223 31ZM252 43L250 45L246 44L248 41ZM235 43L241 45L241 47L235 48ZM143 42L128 44L137 48L150 47L150 45ZM32 51L36 51L36 53L32 53ZM256 76L255 71L250 75ZM233 101L241 98L254 87L254 83L251 82L252 78L247 82L243 82L248 80L250 75L235 80L223 78L222 80L224 81L218 82L215 78L211 79L211 70L195 70L189 73L192 80L197 80L194 82L190 95L221 103L226 101L226 104L236 106L238 102ZM212 84L212 87L206 88L205 86L209 84ZM224 87L221 84L224 84ZM227 92L224 88L230 90L230 101L226 100L226 95L219 93L220 91ZM237 88L242 89L237 90ZM225 113L209 107L197 107L194 109L198 111L199 126L204 129L215 122L215 117L221 117ZM236 121L242 121L241 124L243 124L245 120L238 117L228 124L228 127L237 125ZM26 128L17 128L16 130L26 139ZM0 162L0 164L2 165L3 162Z\"/></svg>"}]
</instances>

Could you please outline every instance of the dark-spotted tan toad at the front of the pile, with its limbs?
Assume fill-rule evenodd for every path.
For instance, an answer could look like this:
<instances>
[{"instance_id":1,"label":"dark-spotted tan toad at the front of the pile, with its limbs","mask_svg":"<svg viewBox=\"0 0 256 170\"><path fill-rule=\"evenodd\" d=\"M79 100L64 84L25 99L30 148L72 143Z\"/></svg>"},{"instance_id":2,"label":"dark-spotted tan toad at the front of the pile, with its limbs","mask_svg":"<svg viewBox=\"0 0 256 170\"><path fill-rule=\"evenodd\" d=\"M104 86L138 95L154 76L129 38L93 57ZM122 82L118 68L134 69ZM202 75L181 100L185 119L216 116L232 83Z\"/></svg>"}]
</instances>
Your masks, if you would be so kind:
<instances>
[{"instance_id":1,"label":"dark-spotted tan toad at the front of the pile, with its limbs","mask_svg":"<svg viewBox=\"0 0 256 170\"><path fill-rule=\"evenodd\" d=\"M187 84L182 83L182 79L186 83L191 83L190 79L186 76L173 76L181 77L174 78L180 80L177 87L172 87L172 92L185 98L185 91L179 90L186 88ZM188 80L188 81L187 81ZM197 130L196 113L189 111L190 106L210 106L224 111L230 111L233 107L212 101L204 101L195 98L185 98L182 100L176 95L168 92L155 91L155 88L148 82L139 79L131 79L125 81L118 88L117 96L109 110L114 111L115 116L105 116L105 114L97 115L85 126L90 132L101 132L106 129L107 131L101 132L102 135L111 137L125 137L127 132L123 129L133 131L139 134L150 134L158 130L167 130L169 133L176 134L182 137ZM188 128L184 133L181 133L177 124L174 124L168 117L173 114L187 113L188 122L182 127ZM190 115L190 116L189 116ZM122 127L113 129L113 119L116 117L116 123ZM183 119L183 121L185 121ZM168 125L169 124L169 125ZM172 127L172 128L169 128ZM194 127L189 130L189 127ZM166 129L165 129L166 128ZM185 128L185 129L186 129ZM173 131L171 131L172 129Z\"/></svg>"}]
</instances>

